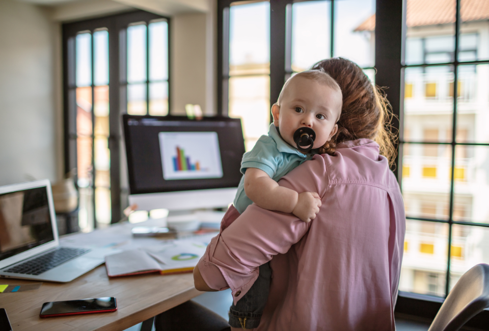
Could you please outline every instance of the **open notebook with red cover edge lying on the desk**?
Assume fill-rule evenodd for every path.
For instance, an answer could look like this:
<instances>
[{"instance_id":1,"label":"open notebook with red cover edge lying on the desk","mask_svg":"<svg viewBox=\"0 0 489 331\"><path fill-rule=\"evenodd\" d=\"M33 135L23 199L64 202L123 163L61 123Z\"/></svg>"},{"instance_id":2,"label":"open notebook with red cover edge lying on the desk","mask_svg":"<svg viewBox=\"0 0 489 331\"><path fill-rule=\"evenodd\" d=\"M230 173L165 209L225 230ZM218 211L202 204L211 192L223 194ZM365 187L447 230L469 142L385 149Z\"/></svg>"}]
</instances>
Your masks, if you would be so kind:
<instances>
[{"instance_id":1,"label":"open notebook with red cover edge lying on the desk","mask_svg":"<svg viewBox=\"0 0 489 331\"><path fill-rule=\"evenodd\" d=\"M106 256L105 268L109 277L192 272L206 246L202 240L175 240L160 246L123 251Z\"/></svg>"}]
</instances>

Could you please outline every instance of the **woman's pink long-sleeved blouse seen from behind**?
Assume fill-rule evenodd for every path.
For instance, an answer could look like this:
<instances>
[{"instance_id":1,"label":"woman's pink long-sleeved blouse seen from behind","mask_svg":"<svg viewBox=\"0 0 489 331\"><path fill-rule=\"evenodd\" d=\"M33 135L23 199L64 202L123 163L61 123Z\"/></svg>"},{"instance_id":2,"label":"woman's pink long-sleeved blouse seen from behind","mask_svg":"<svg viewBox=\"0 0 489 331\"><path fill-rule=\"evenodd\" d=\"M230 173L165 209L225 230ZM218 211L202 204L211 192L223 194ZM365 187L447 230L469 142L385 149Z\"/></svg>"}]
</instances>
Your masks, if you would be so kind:
<instances>
[{"instance_id":1,"label":"woman's pink long-sleeved blouse seen from behind","mask_svg":"<svg viewBox=\"0 0 489 331\"><path fill-rule=\"evenodd\" d=\"M207 285L231 288L237 302L271 260L258 330L394 330L405 215L378 145L339 144L334 156L315 155L279 184L317 192L316 218L304 223L253 204L234 220L230 209L198 264Z\"/></svg>"}]
</instances>

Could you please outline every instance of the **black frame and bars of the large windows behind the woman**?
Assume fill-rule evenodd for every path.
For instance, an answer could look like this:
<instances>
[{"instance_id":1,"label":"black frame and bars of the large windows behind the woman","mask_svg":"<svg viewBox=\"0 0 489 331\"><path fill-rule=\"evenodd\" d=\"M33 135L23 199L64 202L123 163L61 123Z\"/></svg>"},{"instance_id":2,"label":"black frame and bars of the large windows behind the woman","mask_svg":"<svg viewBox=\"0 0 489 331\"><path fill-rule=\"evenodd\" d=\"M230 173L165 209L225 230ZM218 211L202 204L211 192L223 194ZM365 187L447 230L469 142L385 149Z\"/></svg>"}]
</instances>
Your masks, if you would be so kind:
<instances>
[{"instance_id":1,"label":"black frame and bars of the large windows behind the woman","mask_svg":"<svg viewBox=\"0 0 489 331\"><path fill-rule=\"evenodd\" d=\"M270 2L270 104L273 104L282 89L287 74L292 72L290 68L291 54L289 46L291 43L291 33L286 31L287 20L290 19L286 7L296 2L304 0L273 0ZM456 2L456 22L455 22L455 53L457 53L458 41L460 37L460 0ZM229 79L229 7L231 3L248 2L246 0L218 0L218 114L221 116L228 115L228 80ZM332 13L334 13L334 2L332 2ZM290 12L290 11L289 11ZM406 65L405 64L405 41L406 41L406 0L376 0L375 10L375 84L380 87L389 87L387 99L389 100L392 112L395 115L391 129L397 132L398 141L395 143L397 156L391 170L398 178L399 186L402 184L402 147L405 142L403 137L403 107L404 107L404 70L410 67L426 66L454 66L453 91L454 111L452 124L452 142L451 143L434 143L441 145L451 145L451 186L450 186L450 203L448 220L430 219L422 217L406 217L406 219L426 220L428 222L439 222L449 225L448 234L448 261L447 261L447 281L446 293L449 293L450 286L450 249L452 242L452 225L469 225L489 228L489 224L472 223L472 222L455 222L453 221L454 207L454 171L455 171L455 146L489 146L482 143L456 143L456 107L457 107L457 68L458 65L468 64L487 64L489 60L459 62L458 57L454 56L454 61L441 64L422 64ZM331 31L331 57L333 57L334 45L334 14L332 14L332 31ZM287 50L288 49L288 50ZM288 63L288 66L287 66ZM369 68L364 68L369 69ZM225 76L227 74L227 77ZM433 144L419 143L416 144ZM402 187L401 187L402 189ZM444 298L431 295L423 295L411 292L399 291L395 312L399 314L413 315L420 318L432 320L437 314L443 303ZM479 329L489 329L486 323L489 318L489 311L483 311L472 318L466 325L477 327Z\"/></svg>"}]
</instances>

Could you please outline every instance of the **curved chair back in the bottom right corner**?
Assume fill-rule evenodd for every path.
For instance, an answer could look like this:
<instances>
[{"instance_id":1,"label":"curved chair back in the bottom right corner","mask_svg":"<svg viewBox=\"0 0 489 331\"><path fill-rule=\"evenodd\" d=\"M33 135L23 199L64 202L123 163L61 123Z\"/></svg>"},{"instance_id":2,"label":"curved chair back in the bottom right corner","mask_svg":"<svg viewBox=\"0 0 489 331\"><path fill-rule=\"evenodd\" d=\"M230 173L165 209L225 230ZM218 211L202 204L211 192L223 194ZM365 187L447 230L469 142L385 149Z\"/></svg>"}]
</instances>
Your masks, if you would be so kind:
<instances>
[{"instance_id":1,"label":"curved chair back in the bottom right corner","mask_svg":"<svg viewBox=\"0 0 489 331\"><path fill-rule=\"evenodd\" d=\"M489 308L489 265L481 263L460 277L428 331L458 330L486 308Z\"/></svg>"}]
</instances>

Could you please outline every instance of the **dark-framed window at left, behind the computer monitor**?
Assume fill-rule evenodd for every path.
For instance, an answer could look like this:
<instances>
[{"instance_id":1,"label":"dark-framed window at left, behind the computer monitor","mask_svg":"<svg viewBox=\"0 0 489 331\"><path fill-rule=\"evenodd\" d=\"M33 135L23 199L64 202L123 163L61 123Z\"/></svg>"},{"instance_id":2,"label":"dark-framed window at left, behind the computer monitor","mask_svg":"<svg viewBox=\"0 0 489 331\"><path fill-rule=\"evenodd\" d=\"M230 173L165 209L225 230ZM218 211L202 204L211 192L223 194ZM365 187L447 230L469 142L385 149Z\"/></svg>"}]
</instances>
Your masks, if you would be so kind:
<instances>
[{"instance_id":1,"label":"dark-framed window at left, behind the computer monitor","mask_svg":"<svg viewBox=\"0 0 489 331\"><path fill-rule=\"evenodd\" d=\"M127 204L120 115L168 114L168 36L168 19L143 11L63 24L65 172L77 169L82 231Z\"/></svg>"}]
</instances>

